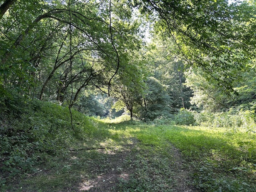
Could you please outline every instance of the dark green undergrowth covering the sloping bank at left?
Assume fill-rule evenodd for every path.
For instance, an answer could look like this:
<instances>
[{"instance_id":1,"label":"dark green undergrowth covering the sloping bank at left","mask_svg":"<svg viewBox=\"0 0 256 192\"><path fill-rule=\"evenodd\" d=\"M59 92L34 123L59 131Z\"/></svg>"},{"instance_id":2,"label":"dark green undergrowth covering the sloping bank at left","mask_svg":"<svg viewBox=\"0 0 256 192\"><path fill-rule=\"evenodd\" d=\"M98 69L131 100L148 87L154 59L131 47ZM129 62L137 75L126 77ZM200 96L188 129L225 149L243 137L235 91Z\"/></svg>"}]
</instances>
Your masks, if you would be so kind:
<instances>
[{"instance_id":1,"label":"dark green undergrowth covering the sloping bank at left","mask_svg":"<svg viewBox=\"0 0 256 192\"><path fill-rule=\"evenodd\" d=\"M74 112L75 132L68 108L13 95L0 99L1 172L3 178L37 172L44 154L62 153L77 138L87 138L93 128L84 115ZM6 179L2 180L4 184Z\"/></svg>"}]
</instances>

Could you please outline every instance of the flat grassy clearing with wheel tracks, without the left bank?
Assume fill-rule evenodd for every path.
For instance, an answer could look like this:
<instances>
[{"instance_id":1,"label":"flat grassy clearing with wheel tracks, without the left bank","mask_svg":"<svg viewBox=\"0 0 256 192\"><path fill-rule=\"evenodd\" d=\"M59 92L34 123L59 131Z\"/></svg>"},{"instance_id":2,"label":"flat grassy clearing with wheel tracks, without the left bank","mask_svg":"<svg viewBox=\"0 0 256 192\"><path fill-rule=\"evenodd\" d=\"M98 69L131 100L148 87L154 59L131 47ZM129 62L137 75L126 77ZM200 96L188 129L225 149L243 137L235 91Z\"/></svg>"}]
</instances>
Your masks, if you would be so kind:
<instances>
[{"instance_id":1,"label":"flat grassy clearing with wheel tracks, without the left bank","mask_svg":"<svg viewBox=\"0 0 256 192\"><path fill-rule=\"evenodd\" d=\"M111 124L17 178L8 192L253 192L255 135ZM250 142L248 142L250 141ZM244 145L243 145L244 143ZM239 146L240 144L240 146Z\"/></svg>"}]
</instances>

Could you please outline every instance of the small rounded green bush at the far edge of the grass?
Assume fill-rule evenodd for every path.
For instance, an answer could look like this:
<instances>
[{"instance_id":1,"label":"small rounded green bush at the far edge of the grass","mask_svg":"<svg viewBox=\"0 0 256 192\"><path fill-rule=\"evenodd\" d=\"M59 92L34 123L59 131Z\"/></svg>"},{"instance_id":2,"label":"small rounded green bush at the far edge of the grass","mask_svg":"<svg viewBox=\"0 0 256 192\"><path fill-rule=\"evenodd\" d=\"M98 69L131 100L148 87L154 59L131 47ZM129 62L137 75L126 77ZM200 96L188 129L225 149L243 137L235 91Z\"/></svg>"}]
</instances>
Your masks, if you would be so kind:
<instances>
[{"instance_id":1,"label":"small rounded green bush at the far edge of the grass","mask_svg":"<svg viewBox=\"0 0 256 192\"><path fill-rule=\"evenodd\" d=\"M177 125L194 125L196 123L196 120L194 118L193 112L181 108L180 112L175 118L175 122Z\"/></svg>"}]
</instances>

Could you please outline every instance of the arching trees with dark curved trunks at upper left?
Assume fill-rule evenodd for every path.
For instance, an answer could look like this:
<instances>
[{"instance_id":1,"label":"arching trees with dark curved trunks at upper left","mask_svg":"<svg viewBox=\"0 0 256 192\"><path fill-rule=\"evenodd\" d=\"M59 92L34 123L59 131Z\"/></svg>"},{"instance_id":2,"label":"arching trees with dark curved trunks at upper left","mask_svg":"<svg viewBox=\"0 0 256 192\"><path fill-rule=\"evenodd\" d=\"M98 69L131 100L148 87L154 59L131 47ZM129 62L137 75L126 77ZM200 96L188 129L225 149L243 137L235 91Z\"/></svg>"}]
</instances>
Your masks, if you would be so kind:
<instances>
[{"instance_id":1,"label":"arching trees with dark curved trunks at upper left","mask_svg":"<svg viewBox=\"0 0 256 192\"><path fill-rule=\"evenodd\" d=\"M47 93L63 102L71 90L72 106L86 87L108 88L120 62L140 46L131 8L114 0L16 2L8 8L0 25L0 84L22 94L33 90L40 100Z\"/></svg>"}]
</instances>

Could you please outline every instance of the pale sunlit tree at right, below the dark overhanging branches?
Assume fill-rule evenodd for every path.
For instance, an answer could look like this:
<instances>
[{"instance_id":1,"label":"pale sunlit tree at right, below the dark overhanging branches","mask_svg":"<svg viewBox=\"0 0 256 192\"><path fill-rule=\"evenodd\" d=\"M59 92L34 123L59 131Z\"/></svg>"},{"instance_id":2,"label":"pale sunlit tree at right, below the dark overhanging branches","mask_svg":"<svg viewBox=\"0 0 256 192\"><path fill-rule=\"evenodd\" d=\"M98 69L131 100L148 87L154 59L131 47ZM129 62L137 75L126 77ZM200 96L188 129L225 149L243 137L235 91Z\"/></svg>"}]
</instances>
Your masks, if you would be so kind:
<instances>
[{"instance_id":1,"label":"pale sunlit tree at right, below the dark overhanging branches","mask_svg":"<svg viewBox=\"0 0 256 192\"><path fill-rule=\"evenodd\" d=\"M241 104L251 106L255 97L255 70L252 68L246 72L237 71L238 78L233 82L235 93L228 93L219 82L213 80L202 70L190 69L185 73L186 86L194 91L191 103L198 108L212 112L220 112ZM206 79L208 78L208 80Z\"/></svg>"}]
</instances>

